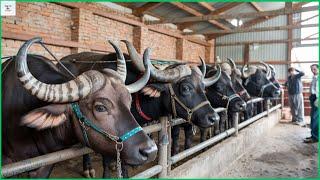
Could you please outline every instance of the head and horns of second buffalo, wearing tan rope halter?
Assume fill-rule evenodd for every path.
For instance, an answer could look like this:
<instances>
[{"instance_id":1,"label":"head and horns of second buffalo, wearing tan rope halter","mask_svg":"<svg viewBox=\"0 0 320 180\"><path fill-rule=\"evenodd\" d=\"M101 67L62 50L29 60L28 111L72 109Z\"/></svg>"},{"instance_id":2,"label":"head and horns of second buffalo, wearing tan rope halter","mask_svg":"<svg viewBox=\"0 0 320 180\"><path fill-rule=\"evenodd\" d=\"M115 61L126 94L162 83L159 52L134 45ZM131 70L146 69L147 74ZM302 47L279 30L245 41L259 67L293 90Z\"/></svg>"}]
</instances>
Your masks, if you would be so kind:
<instances>
[{"instance_id":1,"label":"head and horns of second buffalo, wearing tan rope halter","mask_svg":"<svg viewBox=\"0 0 320 180\"><path fill-rule=\"evenodd\" d=\"M144 72L142 60L133 45L128 41L123 42L126 43L133 64ZM199 127L209 127L219 121L204 90L219 79L220 71L204 78L196 66L178 64L159 70L151 65L151 77L156 83L148 84L142 91L153 97L164 98L164 106L174 116L189 120Z\"/></svg>"}]
</instances>

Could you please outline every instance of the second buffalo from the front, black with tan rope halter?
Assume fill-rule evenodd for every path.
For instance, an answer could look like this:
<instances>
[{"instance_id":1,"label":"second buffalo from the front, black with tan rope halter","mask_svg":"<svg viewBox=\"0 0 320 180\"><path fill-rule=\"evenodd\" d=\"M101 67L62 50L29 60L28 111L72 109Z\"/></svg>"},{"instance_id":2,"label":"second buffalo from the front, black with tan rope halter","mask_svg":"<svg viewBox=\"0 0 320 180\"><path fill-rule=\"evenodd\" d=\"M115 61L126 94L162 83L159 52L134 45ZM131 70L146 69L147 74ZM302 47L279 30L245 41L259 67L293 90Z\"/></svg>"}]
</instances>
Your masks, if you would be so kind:
<instances>
[{"instance_id":1,"label":"second buffalo from the front, black with tan rope halter","mask_svg":"<svg viewBox=\"0 0 320 180\"><path fill-rule=\"evenodd\" d=\"M128 41L125 42L129 55L124 55L127 61L128 75L126 83L136 80L145 71L142 60ZM71 64L77 66L79 73L88 69L101 70L104 68L115 69L112 63L119 57L116 54L99 54L83 52L66 56L61 59L66 67ZM63 67L59 66L63 70ZM138 69L138 70L137 70ZM132 95L133 104L131 112L139 124L143 125L156 120L161 116L174 115L188 120L199 127L212 126L219 120L205 96L205 86L214 84L219 79L220 73L204 78L197 67L186 64L177 64L164 70L158 70L151 65L151 80L141 92ZM90 162L88 156L85 162ZM109 176L107 163L110 159L104 158L104 177ZM85 169L88 163L85 164Z\"/></svg>"}]
</instances>

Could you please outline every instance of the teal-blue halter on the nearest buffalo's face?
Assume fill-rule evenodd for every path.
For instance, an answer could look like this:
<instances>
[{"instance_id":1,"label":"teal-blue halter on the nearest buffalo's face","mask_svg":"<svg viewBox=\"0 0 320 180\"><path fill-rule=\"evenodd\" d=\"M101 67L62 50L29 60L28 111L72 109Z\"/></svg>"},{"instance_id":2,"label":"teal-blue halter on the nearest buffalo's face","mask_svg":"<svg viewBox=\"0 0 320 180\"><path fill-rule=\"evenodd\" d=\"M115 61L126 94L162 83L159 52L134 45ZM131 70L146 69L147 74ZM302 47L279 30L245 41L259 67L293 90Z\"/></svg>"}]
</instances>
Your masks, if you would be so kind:
<instances>
[{"instance_id":1,"label":"teal-blue halter on the nearest buffalo's face","mask_svg":"<svg viewBox=\"0 0 320 180\"><path fill-rule=\"evenodd\" d=\"M82 130L83 138L86 142L86 145L89 147L90 147L90 144L89 144L89 139L88 139L88 135L87 135L88 127L95 130L96 132L102 134L105 138L109 138L116 143L123 143L124 141L128 140L130 137L132 137L135 134L137 134L138 132L142 131L141 126L138 126L134 129L132 129L131 131L123 134L120 137L109 134L109 133L105 132L101 127L95 125L90 119L86 118L82 114L80 107L77 103L71 103L71 107L72 107L73 112L76 114L78 121L81 125L81 130Z\"/></svg>"}]
</instances>

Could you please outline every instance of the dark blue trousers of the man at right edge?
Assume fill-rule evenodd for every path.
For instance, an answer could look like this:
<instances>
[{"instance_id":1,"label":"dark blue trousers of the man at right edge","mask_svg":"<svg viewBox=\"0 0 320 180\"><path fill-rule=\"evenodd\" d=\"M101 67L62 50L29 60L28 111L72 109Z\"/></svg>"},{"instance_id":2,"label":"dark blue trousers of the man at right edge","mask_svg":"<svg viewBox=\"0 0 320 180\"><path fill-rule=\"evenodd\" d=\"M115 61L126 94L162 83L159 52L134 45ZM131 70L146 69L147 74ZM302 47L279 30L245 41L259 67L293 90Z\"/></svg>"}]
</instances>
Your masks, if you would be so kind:
<instances>
[{"instance_id":1,"label":"dark blue trousers of the man at right edge","mask_svg":"<svg viewBox=\"0 0 320 180\"><path fill-rule=\"evenodd\" d=\"M319 137L319 111L318 107L314 105L314 102L316 101L317 97L315 95L311 95L309 97L310 104L311 104L311 113L310 113L310 128L311 128L311 137L314 139L318 139Z\"/></svg>"}]
</instances>

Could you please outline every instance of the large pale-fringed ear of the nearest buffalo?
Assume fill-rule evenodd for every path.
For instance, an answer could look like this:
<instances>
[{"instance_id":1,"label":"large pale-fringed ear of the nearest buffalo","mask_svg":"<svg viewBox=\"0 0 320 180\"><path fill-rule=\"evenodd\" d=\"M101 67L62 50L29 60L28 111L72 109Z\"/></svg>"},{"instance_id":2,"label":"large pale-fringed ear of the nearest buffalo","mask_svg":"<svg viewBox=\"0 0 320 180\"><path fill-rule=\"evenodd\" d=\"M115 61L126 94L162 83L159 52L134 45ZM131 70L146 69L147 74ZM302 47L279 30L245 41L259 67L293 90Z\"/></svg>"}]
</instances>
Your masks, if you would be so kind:
<instances>
[{"instance_id":1,"label":"large pale-fringed ear of the nearest buffalo","mask_svg":"<svg viewBox=\"0 0 320 180\"><path fill-rule=\"evenodd\" d=\"M68 104L51 104L35 110L21 118L21 125L37 130L57 127L67 120Z\"/></svg>"}]
</instances>

